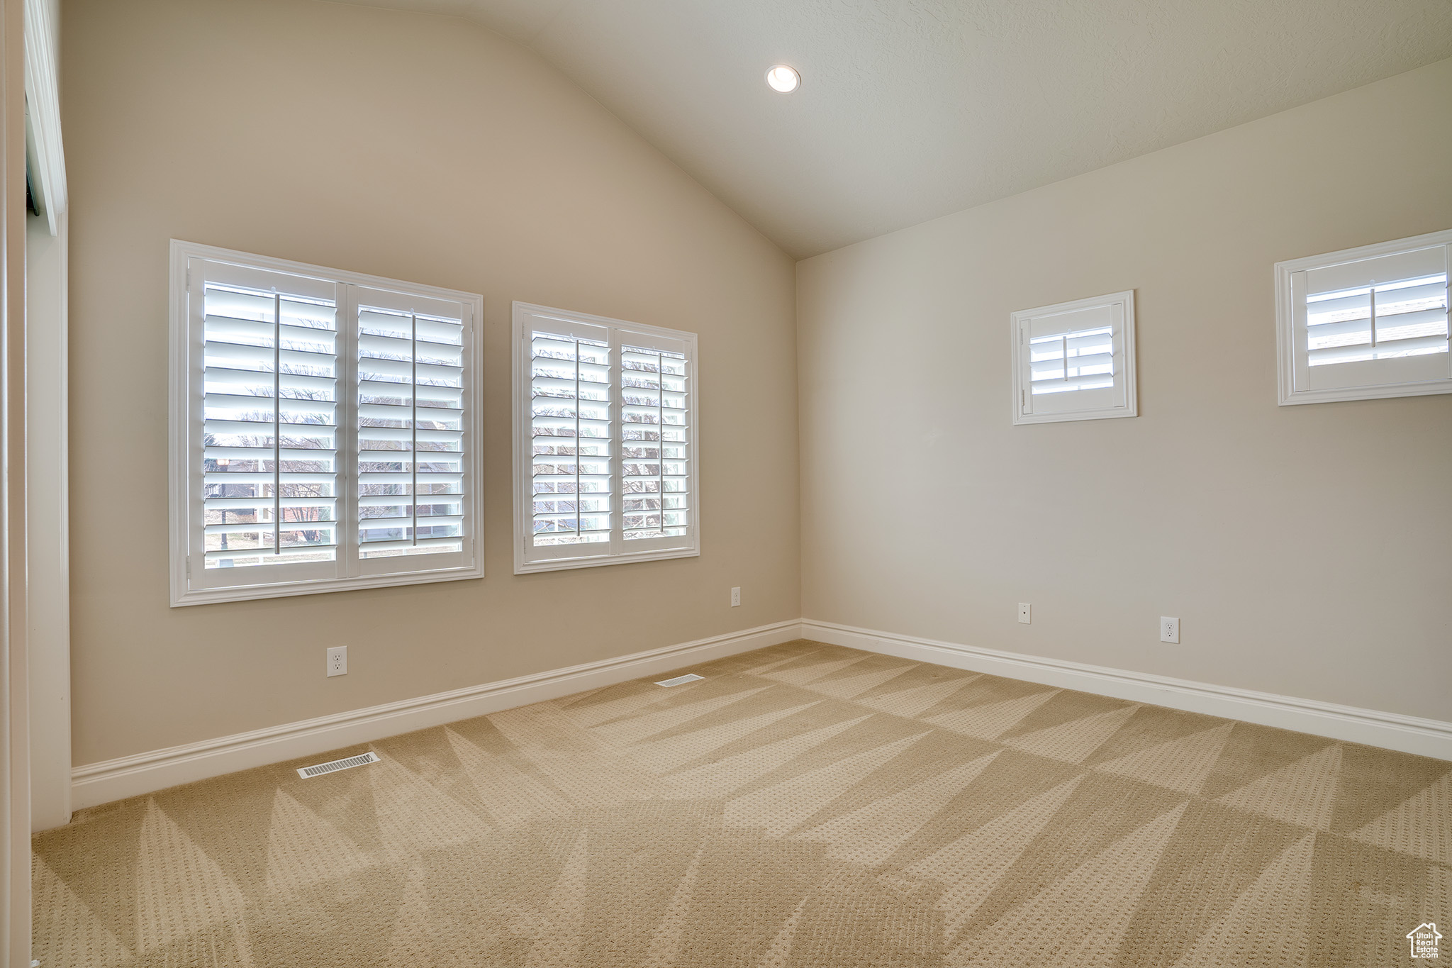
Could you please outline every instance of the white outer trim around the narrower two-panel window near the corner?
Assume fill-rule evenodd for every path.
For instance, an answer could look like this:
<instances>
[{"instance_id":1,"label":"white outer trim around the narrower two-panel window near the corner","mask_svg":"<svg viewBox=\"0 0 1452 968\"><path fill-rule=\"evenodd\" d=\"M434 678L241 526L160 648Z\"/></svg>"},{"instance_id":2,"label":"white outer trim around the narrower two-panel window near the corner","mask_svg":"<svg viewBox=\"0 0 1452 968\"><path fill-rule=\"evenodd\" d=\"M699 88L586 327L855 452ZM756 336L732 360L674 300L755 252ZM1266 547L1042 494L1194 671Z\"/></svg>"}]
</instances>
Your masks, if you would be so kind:
<instances>
[{"instance_id":1,"label":"white outer trim around the narrower two-panel window near the corner","mask_svg":"<svg viewBox=\"0 0 1452 968\"><path fill-rule=\"evenodd\" d=\"M533 425L529 392L533 377L531 356L526 353L524 328L531 313L553 316L569 322L582 322L594 327L605 327L614 331L635 332L640 335L656 335L666 340L684 341L687 353L685 376L690 387L688 408L688 470L691 493L691 524L687 530L688 547L659 549L646 551L626 551L621 554L591 554L582 557L558 557L547 560L526 560L526 538L533 509ZM601 567L607 565L629 565L632 562L661 562L678 557L698 557L701 553L701 498L700 498L700 377L697 376L697 341L694 332L681 329L666 329L650 327L642 322L627 322L608 316L594 316L585 312L571 312L540 306L536 303L514 303L514 325L511 331L510 351L514 354L514 573L529 575L533 572L560 572L575 567ZM526 454L526 448L530 450ZM619 514L619 511L616 511Z\"/></svg>"}]
</instances>

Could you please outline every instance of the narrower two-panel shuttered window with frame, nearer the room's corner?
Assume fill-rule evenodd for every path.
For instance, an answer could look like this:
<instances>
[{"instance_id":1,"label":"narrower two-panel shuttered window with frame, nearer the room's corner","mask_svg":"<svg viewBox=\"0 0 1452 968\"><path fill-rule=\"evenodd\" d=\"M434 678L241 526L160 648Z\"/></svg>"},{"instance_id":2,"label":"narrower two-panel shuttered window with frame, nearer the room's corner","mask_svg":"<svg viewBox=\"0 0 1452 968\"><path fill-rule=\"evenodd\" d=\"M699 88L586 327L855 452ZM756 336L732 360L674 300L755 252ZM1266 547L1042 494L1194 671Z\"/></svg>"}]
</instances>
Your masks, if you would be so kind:
<instances>
[{"instance_id":1,"label":"narrower two-panel shuttered window with frame, nearer the room's corner","mask_svg":"<svg viewBox=\"0 0 1452 968\"><path fill-rule=\"evenodd\" d=\"M696 335L514 303L514 570L700 553Z\"/></svg>"}]
</instances>

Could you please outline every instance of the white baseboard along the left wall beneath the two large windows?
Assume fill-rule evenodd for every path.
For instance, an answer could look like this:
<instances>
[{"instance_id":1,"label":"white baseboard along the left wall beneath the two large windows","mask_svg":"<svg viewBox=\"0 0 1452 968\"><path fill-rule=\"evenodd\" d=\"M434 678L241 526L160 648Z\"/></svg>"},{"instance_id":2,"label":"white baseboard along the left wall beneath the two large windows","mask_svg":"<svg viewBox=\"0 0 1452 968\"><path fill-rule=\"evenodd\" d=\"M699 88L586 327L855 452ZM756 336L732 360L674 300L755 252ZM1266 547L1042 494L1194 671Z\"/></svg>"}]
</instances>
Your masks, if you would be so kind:
<instances>
[{"instance_id":1,"label":"white baseboard along the left wall beneath the two large windows","mask_svg":"<svg viewBox=\"0 0 1452 968\"><path fill-rule=\"evenodd\" d=\"M86 763L71 771L71 800L76 810L94 807L112 800L136 797L238 769L312 756L341 746L370 743L399 733L443 726L530 702L556 700L572 692L669 672L685 665L775 646L800 637L800 621L778 621L771 625L758 625L745 631L636 652L601 662L588 662L568 669L552 669L517 679L424 695L417 700L319 715L315 720L286 723L200 743Z\"/></svg>"}]
</instances>

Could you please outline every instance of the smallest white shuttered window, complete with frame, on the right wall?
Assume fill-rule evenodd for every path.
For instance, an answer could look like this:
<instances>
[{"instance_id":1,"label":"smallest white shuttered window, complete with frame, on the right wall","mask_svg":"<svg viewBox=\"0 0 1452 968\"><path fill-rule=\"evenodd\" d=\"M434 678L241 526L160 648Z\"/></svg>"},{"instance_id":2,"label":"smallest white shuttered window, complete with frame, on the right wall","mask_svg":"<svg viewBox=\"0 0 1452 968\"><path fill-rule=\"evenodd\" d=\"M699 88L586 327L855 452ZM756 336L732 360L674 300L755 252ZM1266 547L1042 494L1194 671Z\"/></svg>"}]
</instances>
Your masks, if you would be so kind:
<instances>
[{"instance_id":1,"label":"smallest white shuttered window, complete with frame, on the right wall","mask_svg":"<svg viewBox=\"0 0 1452 968\"><path fill-rule=\"evenodd\" d=\"M1012 315L1013 422L1134 417L1134 293Z\"/></svg>"}]
</instances>

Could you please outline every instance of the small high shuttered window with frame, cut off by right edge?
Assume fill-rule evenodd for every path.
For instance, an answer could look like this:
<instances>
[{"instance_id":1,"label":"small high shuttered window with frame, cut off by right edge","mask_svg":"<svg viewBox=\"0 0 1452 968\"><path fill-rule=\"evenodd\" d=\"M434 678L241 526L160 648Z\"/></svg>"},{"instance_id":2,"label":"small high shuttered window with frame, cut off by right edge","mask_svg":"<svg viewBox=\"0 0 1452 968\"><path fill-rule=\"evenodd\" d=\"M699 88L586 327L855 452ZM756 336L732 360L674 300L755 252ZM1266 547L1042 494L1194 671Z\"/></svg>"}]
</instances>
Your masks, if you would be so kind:
<instances>
[{"instance_id":1,"label":"small high shuttered window with frame, cut off by right edge","mask_svg":"<svg viewBox=\"0 0 1452 968\"><path fill-rule=\"evenodd\" d=\"M1452 393L1452 231L1276 263L1281 405Z\"/></svg>"}]
</instances>

